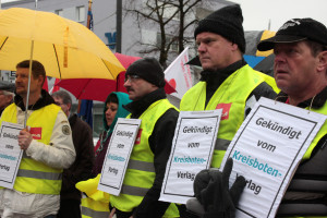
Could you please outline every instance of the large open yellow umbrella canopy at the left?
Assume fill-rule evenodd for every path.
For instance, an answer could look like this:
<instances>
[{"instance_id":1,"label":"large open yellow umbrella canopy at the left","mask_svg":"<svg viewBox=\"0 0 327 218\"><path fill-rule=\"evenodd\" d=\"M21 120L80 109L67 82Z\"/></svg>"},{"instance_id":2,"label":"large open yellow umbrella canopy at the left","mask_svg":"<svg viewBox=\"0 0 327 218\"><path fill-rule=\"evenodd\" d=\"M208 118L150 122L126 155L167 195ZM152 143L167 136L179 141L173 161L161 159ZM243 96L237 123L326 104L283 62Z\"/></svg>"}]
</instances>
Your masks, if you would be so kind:
<instances>
[{"instance_id":1,"label":"large open yellow umbrella canopy at the left","mask_svg":"<svg viewBox=\"0 0 327 218\"><path fill-rule=\"evenodd\" d=\"M31 57L58 78L112 80L124 71L110 49L76 22L29 9L0 10L0 70L15 71Z\"/></svg>"}]
</instances>

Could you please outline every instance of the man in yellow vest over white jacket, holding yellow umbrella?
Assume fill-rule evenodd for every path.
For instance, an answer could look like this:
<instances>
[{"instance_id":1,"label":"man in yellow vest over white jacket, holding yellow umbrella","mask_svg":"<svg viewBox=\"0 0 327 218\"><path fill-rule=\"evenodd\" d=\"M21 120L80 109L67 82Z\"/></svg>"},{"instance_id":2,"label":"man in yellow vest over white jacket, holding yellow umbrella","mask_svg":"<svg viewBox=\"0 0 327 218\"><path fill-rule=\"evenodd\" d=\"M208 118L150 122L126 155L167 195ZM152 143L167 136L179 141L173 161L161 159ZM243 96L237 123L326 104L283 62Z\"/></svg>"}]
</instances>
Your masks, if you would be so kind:
<instances>
[{"instance_id":1,"label":"man in yellow vest over white jacket, holding yellow umbrella","mask_svg":"<svg viewBox=\"0 0 327 218\"><path fill-rule=\"evenodd\" d=\"M0 216L56 217L59 209L62 169L75 159L72 132L66 116L44 90L46 71L38 61L32 62L29 100L29 60L16 65L16 96L0 119L24 124L17 141L24 150L13 190L0 187Z\"/></svg>"}]
</instances>

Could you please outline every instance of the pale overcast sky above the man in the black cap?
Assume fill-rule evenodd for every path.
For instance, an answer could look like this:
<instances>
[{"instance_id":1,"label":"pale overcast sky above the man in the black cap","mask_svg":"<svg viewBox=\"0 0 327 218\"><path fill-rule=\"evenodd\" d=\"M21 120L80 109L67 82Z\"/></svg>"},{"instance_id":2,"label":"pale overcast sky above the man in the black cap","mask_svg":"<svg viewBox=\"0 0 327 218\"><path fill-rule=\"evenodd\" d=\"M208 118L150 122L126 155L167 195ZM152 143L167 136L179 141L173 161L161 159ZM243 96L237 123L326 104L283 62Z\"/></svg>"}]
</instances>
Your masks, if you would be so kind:
<instances>
[{"instance_id":1,"label":"pale overcast sky above the man in the black cap","mask_svg":"<svg viewBox=\"0 0 327 218\"><path fill-rule=\"evenodd\" d=\"M327 0L231 0L240 3L244 31L270 31L290 19L312 17L327 25Z\"/></svg>"}]
</instances>

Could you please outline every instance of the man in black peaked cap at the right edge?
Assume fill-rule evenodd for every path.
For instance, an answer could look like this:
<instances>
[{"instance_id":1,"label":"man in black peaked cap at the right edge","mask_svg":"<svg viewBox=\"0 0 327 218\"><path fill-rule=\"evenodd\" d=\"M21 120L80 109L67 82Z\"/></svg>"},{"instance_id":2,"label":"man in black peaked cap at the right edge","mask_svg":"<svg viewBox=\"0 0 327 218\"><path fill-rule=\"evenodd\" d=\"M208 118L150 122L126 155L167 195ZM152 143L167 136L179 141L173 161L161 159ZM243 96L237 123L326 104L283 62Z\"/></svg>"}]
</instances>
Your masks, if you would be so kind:
<instances>
[{"instance_id":1,"label":"man in black peaked cap at the right edge","mask_svg":"<svg viewBox=\"0 0 327 218\"><path fill-rule=\"evenodd\" d=\"M327 28L312 19L286 22L258 50L274 49L277 100L327 114ZM302 158L277 217L327 217L327 124Z\"/></svg>"}]
</instances>

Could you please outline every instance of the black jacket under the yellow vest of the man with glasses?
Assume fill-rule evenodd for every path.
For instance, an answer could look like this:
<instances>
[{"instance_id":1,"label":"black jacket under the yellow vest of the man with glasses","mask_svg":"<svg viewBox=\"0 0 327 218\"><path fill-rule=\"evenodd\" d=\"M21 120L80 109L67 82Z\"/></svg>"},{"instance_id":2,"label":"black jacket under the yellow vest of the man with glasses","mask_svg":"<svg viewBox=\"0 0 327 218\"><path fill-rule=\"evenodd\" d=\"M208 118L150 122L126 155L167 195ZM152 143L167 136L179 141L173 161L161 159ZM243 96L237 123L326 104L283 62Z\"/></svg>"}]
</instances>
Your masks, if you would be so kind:
<instances>
[{"instance_id":1,"label":"black jacket under the yellow vest of the man with glasses","mask_svg":"<svg viewBox=\"0 0 327 218\"><path fill-rule=\"evenodd\" d=\"M131 112L131 118L137 119L153 102L165 99L164 88L159 88L141 100L132 101L124 106ZM166 172L166 165L169 159L171 143L179 112L175 109L167 110L156 122L153 134L149 136L149 146L155 155L154 165L156 178L153 186L144 196L142 203L133 210L136 217L162 217L170 205L167 202L159 202L161 185Z\"/></svg>"}]
</instances>

